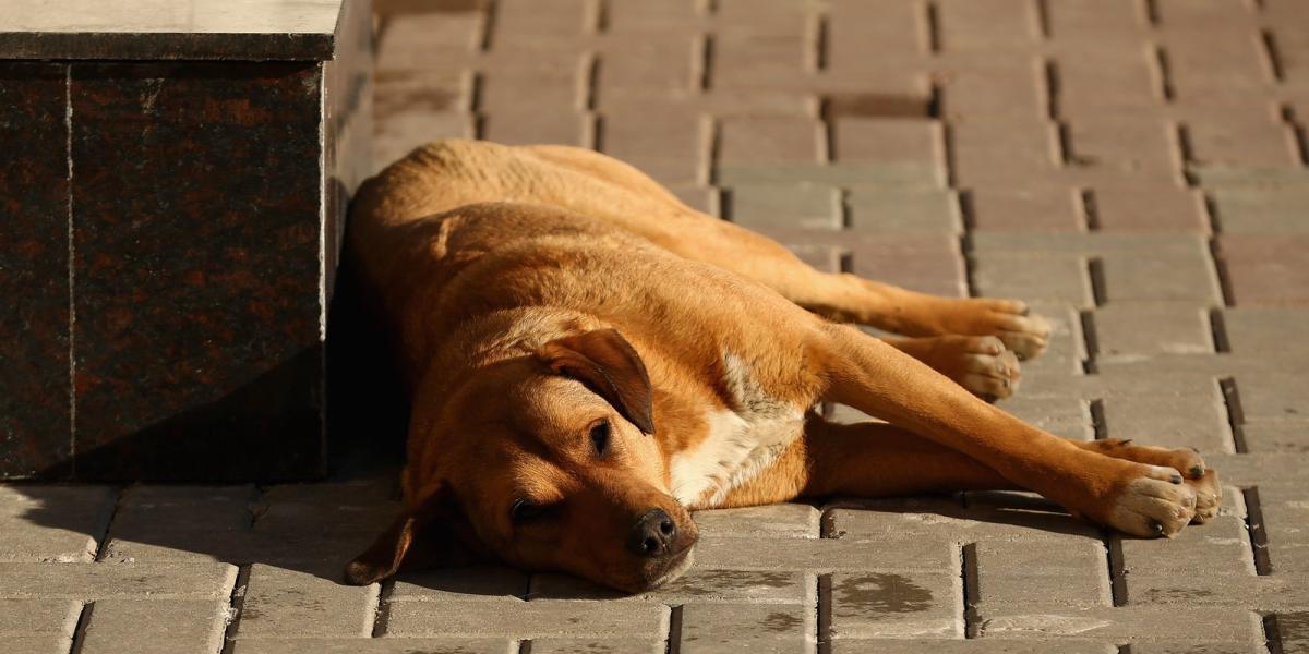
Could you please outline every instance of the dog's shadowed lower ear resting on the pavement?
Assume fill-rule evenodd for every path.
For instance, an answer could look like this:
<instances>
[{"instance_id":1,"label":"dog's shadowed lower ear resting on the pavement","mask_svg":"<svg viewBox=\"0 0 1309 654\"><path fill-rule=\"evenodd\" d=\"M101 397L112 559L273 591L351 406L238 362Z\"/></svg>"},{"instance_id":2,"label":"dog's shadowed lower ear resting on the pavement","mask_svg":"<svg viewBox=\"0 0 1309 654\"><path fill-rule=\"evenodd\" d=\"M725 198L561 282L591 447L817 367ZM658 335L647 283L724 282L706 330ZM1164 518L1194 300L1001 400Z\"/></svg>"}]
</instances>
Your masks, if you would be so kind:
<instances>
[{"instance_id":1,"label":"dog's shadowed lower ear resting on the pavement","mask_svg":"<svg viewBox=\"0 0 1309 654\"><path fill-rule=\"evenodd\" d=\"M437 490L418 509L407 509L364 553L346 564L346 583L367 586L401 570L466 565L487 560L467 547L473 527L448 493Z\"/></svg>"}]
</instances>

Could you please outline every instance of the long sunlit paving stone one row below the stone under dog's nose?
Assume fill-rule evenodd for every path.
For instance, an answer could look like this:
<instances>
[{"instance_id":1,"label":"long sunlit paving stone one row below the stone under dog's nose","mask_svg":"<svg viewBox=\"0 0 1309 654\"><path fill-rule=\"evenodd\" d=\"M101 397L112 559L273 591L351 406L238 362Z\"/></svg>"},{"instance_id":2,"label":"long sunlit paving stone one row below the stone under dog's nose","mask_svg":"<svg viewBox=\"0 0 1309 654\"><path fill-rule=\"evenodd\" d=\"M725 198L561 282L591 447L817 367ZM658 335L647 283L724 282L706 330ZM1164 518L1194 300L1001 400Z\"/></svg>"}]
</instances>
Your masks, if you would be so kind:
<instances>
[{"instance_id":1,"label":"long sunlit paving stone one row below the stone under dog's nose","mask_svg":"<svg viewBox=\"0 0 1309 654\"><path fill-rule=\"evenodd\" d=\"M644 637L668 632L668 607L641 602L397 602L387 637Z\"/></svg>"}]
</instances>

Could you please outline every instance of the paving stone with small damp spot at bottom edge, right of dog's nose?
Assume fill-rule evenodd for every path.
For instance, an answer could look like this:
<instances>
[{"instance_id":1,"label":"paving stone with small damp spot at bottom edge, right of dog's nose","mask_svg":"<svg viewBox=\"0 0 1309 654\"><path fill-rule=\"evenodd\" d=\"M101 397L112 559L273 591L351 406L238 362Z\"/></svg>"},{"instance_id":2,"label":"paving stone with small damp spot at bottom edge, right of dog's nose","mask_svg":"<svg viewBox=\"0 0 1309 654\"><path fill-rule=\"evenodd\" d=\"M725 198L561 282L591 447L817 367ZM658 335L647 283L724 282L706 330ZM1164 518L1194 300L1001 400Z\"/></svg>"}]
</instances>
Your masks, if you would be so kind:
<instances>
[{"instance_id":1,"label":"paving stone with small damp spot at bottom edge, right of dog's nose","mask_svg":"<svg viewBox=\"0 0 1309 654\"><path fill-rule=\"evenodd\" d=\"M816 607L796 604L687 604L681 651L810 651L817 613Z\"/></svg>"}]
</instances>

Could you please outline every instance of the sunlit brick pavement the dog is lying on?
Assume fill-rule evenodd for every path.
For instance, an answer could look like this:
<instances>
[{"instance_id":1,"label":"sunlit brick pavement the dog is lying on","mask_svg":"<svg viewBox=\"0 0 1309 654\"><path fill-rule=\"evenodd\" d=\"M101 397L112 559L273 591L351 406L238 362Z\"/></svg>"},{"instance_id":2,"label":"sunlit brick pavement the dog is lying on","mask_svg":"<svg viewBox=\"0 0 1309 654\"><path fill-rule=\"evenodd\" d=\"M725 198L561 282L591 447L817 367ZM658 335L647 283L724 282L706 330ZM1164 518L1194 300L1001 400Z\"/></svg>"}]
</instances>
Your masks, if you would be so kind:
<instances>
[{"instance_id":1,"label":"sunlit brick pavement the dog is lying on","mask_svg":"<svg viewBox=\"0 0 1309 654\"><path fill-rule=\"evenodd\" d=\"M1221 515L1162 542L1020 493L711 511L686 578L615 598L334 583L393 471L13 485L0 650L1309 651L1300 0L382 0L378 29L378 165L597 148L814 266L1029 300L1056 332L1003 407L1200 447Z\"/></svg>"}]
</instances>

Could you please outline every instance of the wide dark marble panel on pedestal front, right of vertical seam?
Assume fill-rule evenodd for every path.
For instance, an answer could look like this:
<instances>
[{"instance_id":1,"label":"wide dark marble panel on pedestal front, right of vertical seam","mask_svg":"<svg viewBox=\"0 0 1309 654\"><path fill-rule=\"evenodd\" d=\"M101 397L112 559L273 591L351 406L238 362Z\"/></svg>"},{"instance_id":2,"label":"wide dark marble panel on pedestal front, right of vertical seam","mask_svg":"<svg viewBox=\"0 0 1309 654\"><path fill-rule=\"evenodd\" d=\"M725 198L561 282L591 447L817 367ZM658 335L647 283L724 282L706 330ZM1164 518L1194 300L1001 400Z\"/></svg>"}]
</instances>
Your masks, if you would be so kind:
<instances>
[{"instance_id":1,"label":"wide dark marble panel on pedestal front, right of vertical seam","mask_svg":"<svg viewBox=\"0 0 1309 654\"><path fill-rule=\"evenodd\" d=\"M79 476L321 472L321 75L73 67Z\"/></svg>"}]
</instances>

